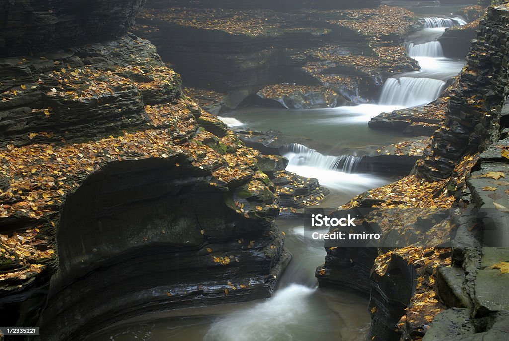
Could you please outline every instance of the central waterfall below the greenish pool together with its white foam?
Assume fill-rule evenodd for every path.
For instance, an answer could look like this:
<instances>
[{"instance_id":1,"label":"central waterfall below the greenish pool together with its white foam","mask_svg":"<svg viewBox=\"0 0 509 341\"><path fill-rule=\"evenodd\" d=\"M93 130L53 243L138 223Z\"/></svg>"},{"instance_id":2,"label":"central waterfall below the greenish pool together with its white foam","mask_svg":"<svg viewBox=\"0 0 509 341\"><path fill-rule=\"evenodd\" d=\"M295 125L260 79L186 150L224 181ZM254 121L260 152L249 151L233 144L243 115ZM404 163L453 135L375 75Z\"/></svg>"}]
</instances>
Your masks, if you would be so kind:
<instances>
[{"instance_id":1,"label":"central waterfall below the greenish pool together with its white foam","mask_svg":"<svg viewBox=\"0 0 509 341\"><path fill-rule=\"evenodd\" d=\"M386 180L367 174L353 174L360 158L345 156L323 155L314 149L294 144L284 153L289 160L287 171L305 178L315 178L318 182L331 190L337 191L365 191L382 186ZM342 165L343 169L338 166Z\"/></svg>"}]
</instances>

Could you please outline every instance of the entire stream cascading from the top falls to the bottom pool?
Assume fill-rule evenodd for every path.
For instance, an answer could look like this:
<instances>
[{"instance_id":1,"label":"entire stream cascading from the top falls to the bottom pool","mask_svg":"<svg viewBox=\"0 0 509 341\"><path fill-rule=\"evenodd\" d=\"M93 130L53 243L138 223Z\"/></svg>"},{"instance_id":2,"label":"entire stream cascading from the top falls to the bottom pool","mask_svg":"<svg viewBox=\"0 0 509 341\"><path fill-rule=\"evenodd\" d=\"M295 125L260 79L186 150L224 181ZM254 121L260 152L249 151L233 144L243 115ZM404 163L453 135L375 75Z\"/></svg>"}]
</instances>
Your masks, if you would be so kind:
<instances>
[{"instance_id":1,"label":"entire stream cascading from the top falls to the bottom pool","mask_svg":"<svg viewBox=\"0 0 509 341\"><path fill-rule=\"evenodd\" d=\"M276 129L288 135L304 136L335 150L341 150L343 146L361 148L394 143L402 136L370 130L367 122L381 112L423 105L437 99L446 81L459 73L464 61L444 58L436 39L445 27L460 24L465 24L460 18L426 18L426 28L413 33L405 43L421 69L389 78L378 104L315 110L247 108L221 119L232 127L262 131ZM290 161L288 171L317 178L321 185L331 190L322 207L338 207L365 190L392 181L355 173L355 158L348 159L343 170L338 170L336 156L324 155L301 145L289 146L285 156ZM302 221L298 218L278 217L276 222L286 233L286 247L294 259L280 278L272 298L154 313L111 328L94 339L364 340L370 324L367 299L346 292L317 290L314 276L316 267L324 262L323 245L320 241L306 240Z\"/></svg>"}]
</instances>

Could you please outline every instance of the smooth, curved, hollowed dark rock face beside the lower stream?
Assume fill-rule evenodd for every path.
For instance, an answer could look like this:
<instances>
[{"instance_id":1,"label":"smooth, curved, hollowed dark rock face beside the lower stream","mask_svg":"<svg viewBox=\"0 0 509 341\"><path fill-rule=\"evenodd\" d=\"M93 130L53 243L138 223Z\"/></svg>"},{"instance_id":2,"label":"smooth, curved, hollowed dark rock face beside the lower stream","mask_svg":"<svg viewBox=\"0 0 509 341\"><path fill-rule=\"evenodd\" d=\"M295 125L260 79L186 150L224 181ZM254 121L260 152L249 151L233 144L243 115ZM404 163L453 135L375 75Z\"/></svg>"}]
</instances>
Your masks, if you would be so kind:
<instances>
[{"instance_id":1,"label":"smooth, curved, hollowed dark rock face beside the lower stream","mask_svg":"<svg viewBox=\"0 0 509 341\"><path fill-rule=\"evenodd\" d=\"M251 219L232 207L273 194L209 181L181 158L112 162L68 196L43 339L80 339L148 310L270 296L291 258L272 222L278 210Z\"/></svg>"}]
</instances>

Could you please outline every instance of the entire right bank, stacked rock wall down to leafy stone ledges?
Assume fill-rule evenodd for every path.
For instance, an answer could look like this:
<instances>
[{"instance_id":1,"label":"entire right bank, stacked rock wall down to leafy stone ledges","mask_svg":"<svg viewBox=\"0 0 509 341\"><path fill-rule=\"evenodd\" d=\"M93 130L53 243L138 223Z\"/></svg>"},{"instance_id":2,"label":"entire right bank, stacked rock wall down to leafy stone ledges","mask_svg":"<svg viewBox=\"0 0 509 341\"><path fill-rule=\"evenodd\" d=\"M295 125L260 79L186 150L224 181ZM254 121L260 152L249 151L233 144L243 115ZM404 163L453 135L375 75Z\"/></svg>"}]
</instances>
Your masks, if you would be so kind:
<instances>
[{"instance_id":1,"label":"entire right bank, stacked rock wall down to leafy stone ledges","mask_svg":"<svg viewBox=\"0 0 509 341\"><path fill-rule=\"evenodd\" d=\"M507 11L490 8L481 21L445 125L417 162L416 175L363 193L335 213L367 209L364 223L382 234L373 245L379 248L371 273L369 262L341 246L326 248L317 271L320 285L371 293L373 339L507 338L509 204L500 181L507 141L490 146L499 130L507 137ZM373 246L356 252L370 254ZM341 276L345 271L350 275Z\"/></svg>"}]
</instances>

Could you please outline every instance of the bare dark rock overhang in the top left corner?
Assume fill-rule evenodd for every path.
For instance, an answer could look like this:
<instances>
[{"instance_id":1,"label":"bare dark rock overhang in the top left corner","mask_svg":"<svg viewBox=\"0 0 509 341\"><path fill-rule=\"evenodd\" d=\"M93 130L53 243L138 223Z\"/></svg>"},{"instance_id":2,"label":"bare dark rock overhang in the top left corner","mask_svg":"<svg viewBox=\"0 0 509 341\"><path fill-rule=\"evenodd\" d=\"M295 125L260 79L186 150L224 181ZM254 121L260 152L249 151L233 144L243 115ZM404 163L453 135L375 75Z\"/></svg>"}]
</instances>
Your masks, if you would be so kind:
<instances>
[{"instance_id":1,"label":"bare dark rock overhang in the top left corner","mask_svg":"<svg viewBox=\"0 0 509 341\"><path fill-rule=\"evenodd\" d=\"M0 4L0 56L21 55L119 37L145 0L35 1Z\"/></svg>"}]
</instances>

